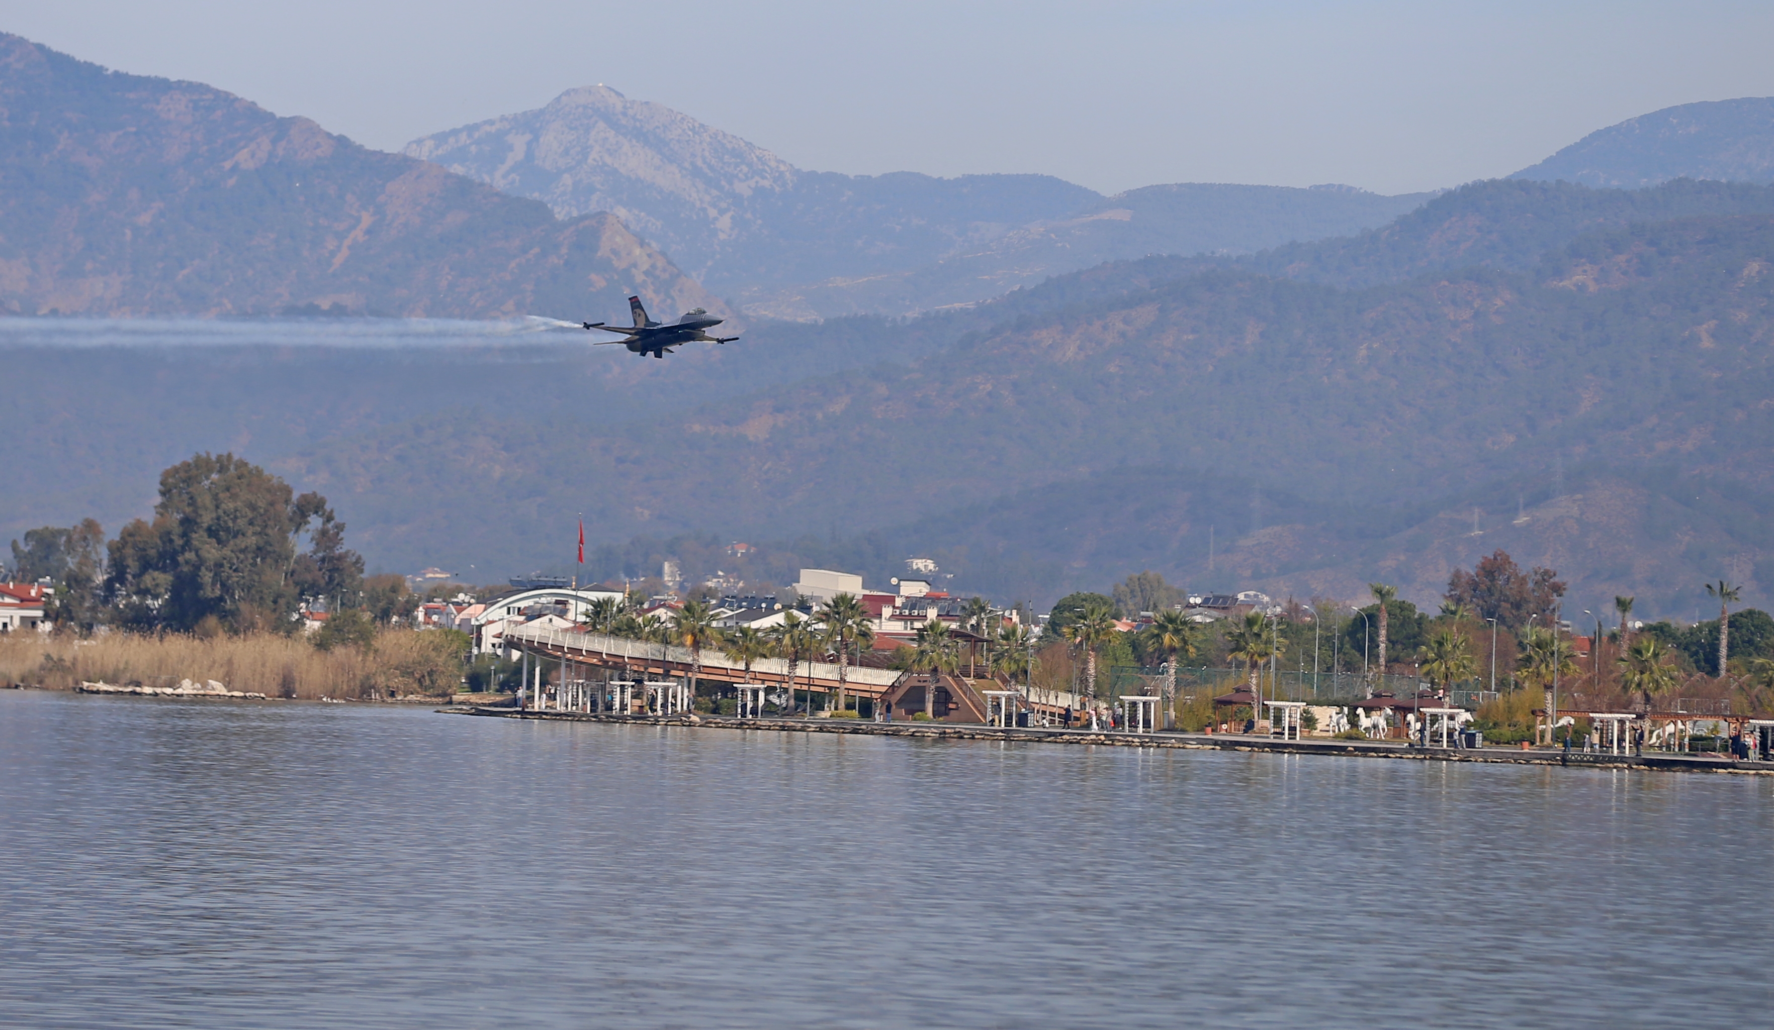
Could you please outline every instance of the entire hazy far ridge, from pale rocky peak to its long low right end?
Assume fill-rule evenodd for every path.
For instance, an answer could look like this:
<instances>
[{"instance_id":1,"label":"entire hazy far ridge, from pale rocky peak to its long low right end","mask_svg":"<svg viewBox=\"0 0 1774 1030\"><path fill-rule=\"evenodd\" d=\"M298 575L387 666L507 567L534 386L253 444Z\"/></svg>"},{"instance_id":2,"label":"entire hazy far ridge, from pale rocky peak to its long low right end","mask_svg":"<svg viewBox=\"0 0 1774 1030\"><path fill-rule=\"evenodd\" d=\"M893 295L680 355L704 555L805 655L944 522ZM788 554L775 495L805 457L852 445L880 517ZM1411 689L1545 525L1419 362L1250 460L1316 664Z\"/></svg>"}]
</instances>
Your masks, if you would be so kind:
<instances>
[{"instance_id":1,"label":"entire hazy far ridge, from pale rocky peak to its long low right end","mask_svg":"<svg viewBox=\"0 0 1774 1030\"><path fill-rule=\"evenodd\" d=\"M1102 197L1052 176L807 172L605 87L435 133L406 154L532 197L612 211L749 314L811 321L977 303L1103 261L1251 254L1348 236L1428 193L1180 183Z\"/></svg>"}]
</instances>

